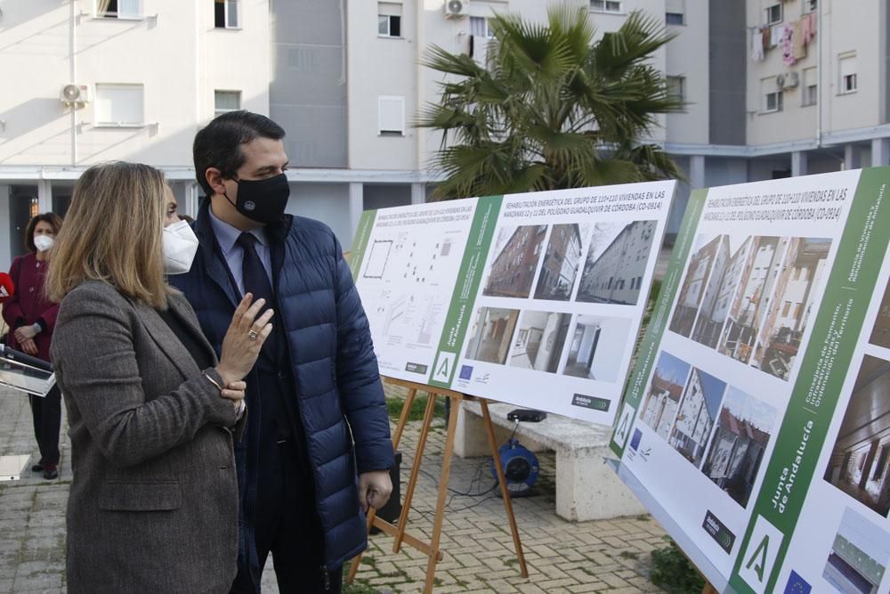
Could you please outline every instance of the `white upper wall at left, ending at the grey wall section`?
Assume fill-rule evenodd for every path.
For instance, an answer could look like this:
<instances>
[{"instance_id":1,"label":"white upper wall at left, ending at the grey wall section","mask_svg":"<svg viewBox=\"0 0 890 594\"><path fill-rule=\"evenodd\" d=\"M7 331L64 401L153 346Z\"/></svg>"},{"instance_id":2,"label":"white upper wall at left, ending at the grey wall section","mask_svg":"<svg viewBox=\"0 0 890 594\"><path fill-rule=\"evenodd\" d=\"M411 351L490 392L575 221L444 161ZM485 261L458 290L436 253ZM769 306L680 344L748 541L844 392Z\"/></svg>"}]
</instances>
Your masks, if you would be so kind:
<instances>
[{"instance_id":1,"label":"white upper wall at left, ending at the grey wall section","mask_svg":"<svg viewBox=\"0 0 890 594\"><path fill-rule=\"evenodd\" d=\"M214 88L240 90L268 113L266 0L242 2L242 28L215 29L213 3L143 0L139 20L94 16L92 0L4 4L0 166L91 165L112 159L191 167L191 142L213 117ZM72 52L73 49L73 52ZM88 85L71 110L63 85ZM142 126L99 126L96 84L142 85Z\"/></svg>"}]
</instances>

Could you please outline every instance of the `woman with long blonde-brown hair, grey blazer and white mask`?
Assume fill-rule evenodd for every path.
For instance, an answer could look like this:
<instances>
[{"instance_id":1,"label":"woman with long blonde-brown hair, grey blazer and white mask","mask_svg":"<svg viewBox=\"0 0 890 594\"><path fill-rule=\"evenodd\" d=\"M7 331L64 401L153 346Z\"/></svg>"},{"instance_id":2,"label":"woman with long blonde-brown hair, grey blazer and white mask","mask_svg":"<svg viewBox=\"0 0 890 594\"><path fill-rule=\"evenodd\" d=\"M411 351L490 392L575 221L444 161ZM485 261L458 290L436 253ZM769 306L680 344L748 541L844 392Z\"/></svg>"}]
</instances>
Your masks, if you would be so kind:
<instances>
[{"instance_id":1,"label":"woman with long blonde-brown hair, grey blazer and white mask","mask_svg":"<svg viewBox=\"0 0 890 594\"><path fill-rule=\"evenodd\" d=\"M263 300L247 294L217 361L166 283L166 271L188 270L197 240L174 224L173 194L153 167L90 167L66 218L47 288L61 302L51 351L74 470L68 590L227 592L241 379L271 313L256 318Z\"/></svg>"}]
</instances>

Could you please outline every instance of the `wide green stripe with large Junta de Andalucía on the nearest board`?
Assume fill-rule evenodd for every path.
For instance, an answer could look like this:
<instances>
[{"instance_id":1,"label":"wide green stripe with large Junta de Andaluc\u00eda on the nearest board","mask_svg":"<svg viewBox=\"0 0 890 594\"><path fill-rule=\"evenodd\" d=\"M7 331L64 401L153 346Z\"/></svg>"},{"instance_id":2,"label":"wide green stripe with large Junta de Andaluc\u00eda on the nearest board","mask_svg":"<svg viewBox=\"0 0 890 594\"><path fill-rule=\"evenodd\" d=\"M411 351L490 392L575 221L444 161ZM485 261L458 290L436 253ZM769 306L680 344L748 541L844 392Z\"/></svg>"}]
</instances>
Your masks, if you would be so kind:
<instances>
[{"instance_id":1,"label":"wide green stripe with large Junta de Andaluc\u00eda on the nearest board","mask_svg":"<svg viewBox=\"0 0 890 594\"><path fill-rule=\"evenodd\" d=\"M890 167L864 169L732 570L730 584L738 592L776 590L884 262L887 229Z\"/></svg>"}]
</instances>

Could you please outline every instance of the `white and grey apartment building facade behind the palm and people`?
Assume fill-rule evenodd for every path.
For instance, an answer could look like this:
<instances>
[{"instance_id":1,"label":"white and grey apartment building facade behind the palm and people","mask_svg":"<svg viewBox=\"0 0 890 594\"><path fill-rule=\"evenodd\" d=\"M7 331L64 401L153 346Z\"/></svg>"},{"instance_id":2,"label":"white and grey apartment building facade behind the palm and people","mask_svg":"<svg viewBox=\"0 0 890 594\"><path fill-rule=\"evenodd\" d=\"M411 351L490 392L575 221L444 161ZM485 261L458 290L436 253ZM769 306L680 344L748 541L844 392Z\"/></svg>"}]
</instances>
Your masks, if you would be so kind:
<instances>
[{"instance_id":1,"label":"white and grey apartment building facade behind the palm and people","mask_svg":"<svg viewBox=\"0 0 890 594\"><path fill-rule=\"evenodd\" d=\"M886 164L890 60L886 2L862 0L569 0L597 30L634 10L677 37L654 57L688 102L651 142L690 188ZM479 56L488 19L543 20L541 0L12 0L0 16L0 267L20 252L21 221L63 213L93 163L165 170L194 212L190 144L215 113L244 108L287 130L288 210L330 224L344 247L363 209L422 203L437 181L440 137L412 126L440 77L420 65L435 44ZM813 16L814 15L814 16ZM814 23L806 55L752 52L764 28ZM811 32L810 29L807 31ZM772 39L771 35L771 39ZM800 38L800 37L798 37ZM744 74L742 74L744 73ZM781 76L781 85L778 84ZM796 82L795 82L796 81ZM814 83L813 83L814 81ZM61 96L66 85L69 97Z\"/></svg>"}]
</instances>

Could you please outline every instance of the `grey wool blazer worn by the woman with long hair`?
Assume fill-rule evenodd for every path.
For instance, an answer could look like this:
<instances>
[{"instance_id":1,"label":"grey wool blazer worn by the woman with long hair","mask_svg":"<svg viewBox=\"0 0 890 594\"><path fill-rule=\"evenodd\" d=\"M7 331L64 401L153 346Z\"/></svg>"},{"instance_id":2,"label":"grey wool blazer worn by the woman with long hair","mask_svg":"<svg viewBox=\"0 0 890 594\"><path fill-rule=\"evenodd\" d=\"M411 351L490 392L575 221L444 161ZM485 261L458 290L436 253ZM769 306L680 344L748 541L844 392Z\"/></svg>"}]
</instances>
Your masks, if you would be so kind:
<instances>
[{"instance_id":1,"label":"grey wool blazer worn by the woman with long hair","mask_svg":"<svg viewBox=\"0 0 890 594\"><path fill-rule=\"evenodd\" d=\"M215 362L185 298L169 304ZM231 401L158 313L103 282L62 301L51 353L74 468L69 592L228 592L238 557Z\"/></svg>"}]
</instances>

